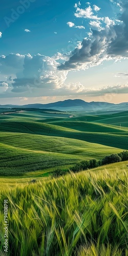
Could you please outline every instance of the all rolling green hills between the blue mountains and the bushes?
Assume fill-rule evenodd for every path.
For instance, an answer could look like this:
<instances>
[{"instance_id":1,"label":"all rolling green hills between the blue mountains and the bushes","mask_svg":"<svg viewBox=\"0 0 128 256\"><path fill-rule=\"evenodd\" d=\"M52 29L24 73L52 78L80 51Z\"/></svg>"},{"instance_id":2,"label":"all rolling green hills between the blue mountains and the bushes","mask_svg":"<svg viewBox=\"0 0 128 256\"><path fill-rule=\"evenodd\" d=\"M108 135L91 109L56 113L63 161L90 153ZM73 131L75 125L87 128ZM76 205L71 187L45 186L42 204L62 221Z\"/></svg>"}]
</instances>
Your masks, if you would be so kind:
<instances>
[{"instance_id":1,"label":"all rolling green hills between the blue mountains and the bushes","mask_svg":"<svg viewBox=\"0 0 128 256\"><path fill-rule=\"evenodd\" d=\"M33 171L46 176L58 167L100 160L128 147L127 112L94 116L84 112L11 111L0 114L1 176L25 176Z\"/></svg>"}]
</instances>

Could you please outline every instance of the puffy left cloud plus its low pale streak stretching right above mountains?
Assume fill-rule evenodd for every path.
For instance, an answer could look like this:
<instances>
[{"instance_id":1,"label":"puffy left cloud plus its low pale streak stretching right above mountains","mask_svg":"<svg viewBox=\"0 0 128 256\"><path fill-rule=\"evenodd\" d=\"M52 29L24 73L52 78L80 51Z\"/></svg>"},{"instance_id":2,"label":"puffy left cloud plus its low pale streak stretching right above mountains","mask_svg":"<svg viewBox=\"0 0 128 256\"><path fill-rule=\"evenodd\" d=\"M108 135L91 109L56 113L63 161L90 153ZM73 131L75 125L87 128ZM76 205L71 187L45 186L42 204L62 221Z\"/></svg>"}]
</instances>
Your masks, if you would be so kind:
<instances>
[{"instance_id":1,"label":"puffy left cloud plus its low pale streak stretching right above mountains","mask_svg":"<svg viewBox=\"0 0 128 256\"><path fill-rule=\"evenodd\" d=\"M90 42L86 42L89 44ZM88 52L88 50L87 50ZM2 58L2 57L1 57ZM15 59L17 65L13 63L13 72L15 77L9 76L11 67L10 59ZM101 88L87 88L80 82L66 83L68 71L58 70L58 62L53 57L44 55L19 55L11 54L3 58L2 66L7 67L6 80L0 81L0 96L32 97L34 96L55 96L55 95L87 95L103 96L108 94L128 93L128 84L119 84L115 86ZM16 66L16 67L15 67ZM127 73L118 73L126 75ZM6 97L7 97L6 96Z\"/></svg>"}]
</instances>

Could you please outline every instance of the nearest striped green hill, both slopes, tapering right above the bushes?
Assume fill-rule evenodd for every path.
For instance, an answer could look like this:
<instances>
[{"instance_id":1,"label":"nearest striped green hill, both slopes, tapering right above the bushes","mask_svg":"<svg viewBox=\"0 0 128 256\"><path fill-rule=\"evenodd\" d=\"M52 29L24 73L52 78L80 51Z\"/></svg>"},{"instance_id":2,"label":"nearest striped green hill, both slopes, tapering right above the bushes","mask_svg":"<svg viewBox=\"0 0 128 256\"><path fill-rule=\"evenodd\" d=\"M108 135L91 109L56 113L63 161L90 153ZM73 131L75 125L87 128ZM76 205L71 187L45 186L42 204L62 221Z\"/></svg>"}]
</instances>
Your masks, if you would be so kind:
<instances>
[{"instance_id":1,"label":"nearest striped green hill, both slopes, tapering right above the bushes","mask_svg":"<svg viewBox=\"0 0 128 256\"><path fill-rule=\"evenodd\" d=\"M100 144L31 134L0 133L0 141L0 175L5 176L57 166L65 169L65 165L81 160L102 159L121 152L121 149Z\"/></svg>"}]
</instances>

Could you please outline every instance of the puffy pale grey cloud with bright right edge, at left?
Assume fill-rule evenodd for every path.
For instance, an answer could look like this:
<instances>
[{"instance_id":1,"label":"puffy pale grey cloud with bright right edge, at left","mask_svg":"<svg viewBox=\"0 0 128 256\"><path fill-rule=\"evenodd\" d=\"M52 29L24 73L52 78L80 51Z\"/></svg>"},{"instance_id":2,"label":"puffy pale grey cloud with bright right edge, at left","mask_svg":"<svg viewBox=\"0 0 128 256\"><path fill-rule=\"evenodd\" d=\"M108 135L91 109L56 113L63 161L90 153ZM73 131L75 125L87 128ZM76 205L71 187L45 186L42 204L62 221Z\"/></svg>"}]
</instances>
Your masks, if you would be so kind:
<instances>
[{"instance_id":1,"label":"puffy pale grey cloud with bright right edge, at left","mask_svg":"<svg viewBox=\"0 0 128 256\"><path fill-rule=\"evenodd\" d=\"M0 57L0 72L4 73L11 91L22 93L35 89L59 89L67 78L67 71L57 69L58 62L44 55L9 54ZM1 87L3 83L1 82ZM7 84L4 83L4 88ZM3 89L4 90L4 89ZM2 90L1 90L2 91Z\"/></svg>"}]
</instances>

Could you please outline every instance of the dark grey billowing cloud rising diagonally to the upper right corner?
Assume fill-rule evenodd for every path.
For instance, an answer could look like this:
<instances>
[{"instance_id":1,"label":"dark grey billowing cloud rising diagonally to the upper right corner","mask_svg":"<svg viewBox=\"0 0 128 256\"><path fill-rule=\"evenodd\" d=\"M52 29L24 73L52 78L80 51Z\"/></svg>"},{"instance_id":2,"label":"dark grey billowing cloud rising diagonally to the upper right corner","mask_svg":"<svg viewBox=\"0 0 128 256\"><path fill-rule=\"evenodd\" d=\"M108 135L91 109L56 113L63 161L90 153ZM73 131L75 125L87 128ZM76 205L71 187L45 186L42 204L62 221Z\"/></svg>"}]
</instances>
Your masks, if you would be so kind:
<instances>
[{"instance_id":1,"label":"dark grey billowing cloud rising diagonally to the upper right corner","mask_svg":"<svg viewBox=\"0 0 128 256\"><path fill-rule=\"evenodd\" d=\"M128 5L125 0L120 0L120 5L123 12L118 19L105 17L103 25L97 16L94 17L90 6L86 10L77 8L77 17L92 19L91 32L82 40L81 46L72 51L69 60L58 66L59 70L85 70L104 60L128 58Z\"/></svg>"}]
</instances>

